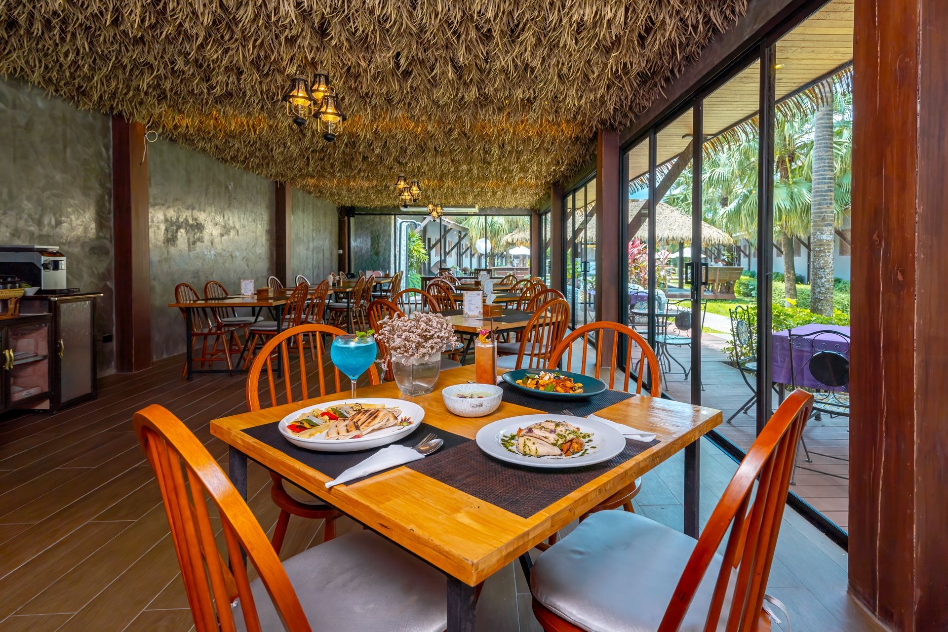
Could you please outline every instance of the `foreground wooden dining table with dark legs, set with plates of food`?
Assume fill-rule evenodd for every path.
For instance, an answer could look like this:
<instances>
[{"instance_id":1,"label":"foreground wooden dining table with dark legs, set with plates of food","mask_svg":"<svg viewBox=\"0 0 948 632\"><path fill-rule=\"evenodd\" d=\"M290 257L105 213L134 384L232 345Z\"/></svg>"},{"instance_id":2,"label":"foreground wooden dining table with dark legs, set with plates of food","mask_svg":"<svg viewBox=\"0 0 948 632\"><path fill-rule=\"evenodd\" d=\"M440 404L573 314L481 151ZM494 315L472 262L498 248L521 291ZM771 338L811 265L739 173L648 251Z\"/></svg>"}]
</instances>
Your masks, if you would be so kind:
<instances>
[{"instance_id":1,"label":"foreground wooden dining table with dark legs, set with plates of food","mask_svg":"<svg viewBox=\"0 0 948 632\"><path fill-rule=\"evenodd\" d=\"M442 371L437 389L420 397L402 395L392 382L360 388L358 394L360 397L392 397L413 402L424 408L426 424L466 439L474 439L485 424L538 412L509 402L502 402L490 415L474 419L448 412L441 388L464 384L473 378L474 367L467 366ZM473 632L475 590L485 579L518 559L524 572L529 573L528 551L682 450L685 450L686 460L684 513L688 531L687 516L698 515L697 442L721 423L720 410L647 395L637 395L607 406L596 415L653 432L658 443L605 470L536 514L521 517L405 465L326 489L325 483L331 477L244 432L246 428L279 421L302 406L336 400L340 396L336 393L215 419L210 422L210 432L228 443L229 477L245 499L247 460L250 459L291 480L445 573L448 632ZM697 521L693 522L689 534L697 535Z\"/></svg>"}]
</instances>

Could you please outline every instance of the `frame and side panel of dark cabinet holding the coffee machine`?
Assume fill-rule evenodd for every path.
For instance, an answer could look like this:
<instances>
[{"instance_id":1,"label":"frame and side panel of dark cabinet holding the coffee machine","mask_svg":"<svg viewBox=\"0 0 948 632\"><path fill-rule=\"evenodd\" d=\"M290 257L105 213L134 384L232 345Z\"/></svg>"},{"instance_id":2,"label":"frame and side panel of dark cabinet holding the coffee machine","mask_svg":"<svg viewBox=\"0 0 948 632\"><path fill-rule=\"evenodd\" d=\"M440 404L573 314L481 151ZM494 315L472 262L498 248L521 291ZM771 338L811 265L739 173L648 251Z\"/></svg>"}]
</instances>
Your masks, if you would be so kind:
<instances>
[{"instance_id":1,"label":"frame and side panel of dark cabinet holding the coffee machine","mask_svg":"<svg viewBox=\"0 0 948 632\"><path fill-rule=\"evenodd\" d=\"M96 309L100 294L24 297L20 318L46 318L49 349L46 405L58 410L96 396ZM28 313L34 313L30 316ZM9 327L0 320L0 327ZM5 347L6 349L6 347ZM23 407L10 399L9 407ZM35 402L30 396L30 402Z\"/></svg>"}]
</instances>

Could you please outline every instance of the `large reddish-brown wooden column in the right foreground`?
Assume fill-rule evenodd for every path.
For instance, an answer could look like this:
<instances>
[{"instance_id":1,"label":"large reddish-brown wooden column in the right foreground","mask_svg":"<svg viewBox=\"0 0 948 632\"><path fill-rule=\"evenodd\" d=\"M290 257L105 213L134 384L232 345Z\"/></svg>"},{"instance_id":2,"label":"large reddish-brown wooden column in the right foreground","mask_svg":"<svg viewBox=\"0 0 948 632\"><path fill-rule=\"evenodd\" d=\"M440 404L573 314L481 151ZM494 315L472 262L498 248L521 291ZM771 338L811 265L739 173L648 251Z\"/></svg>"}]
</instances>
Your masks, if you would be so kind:
<instances>
[{"instance_id":1,"label":"large reddish-brown wooden column in the right foreground","mask_svg":"<svg viewBox=\"0 0 948 632\"><path fill-rule=\"evenodd\" d=\"M855 3L849 592L900 631L948 629L945 32L944 0Z\"/></svg>"}]
</instances>

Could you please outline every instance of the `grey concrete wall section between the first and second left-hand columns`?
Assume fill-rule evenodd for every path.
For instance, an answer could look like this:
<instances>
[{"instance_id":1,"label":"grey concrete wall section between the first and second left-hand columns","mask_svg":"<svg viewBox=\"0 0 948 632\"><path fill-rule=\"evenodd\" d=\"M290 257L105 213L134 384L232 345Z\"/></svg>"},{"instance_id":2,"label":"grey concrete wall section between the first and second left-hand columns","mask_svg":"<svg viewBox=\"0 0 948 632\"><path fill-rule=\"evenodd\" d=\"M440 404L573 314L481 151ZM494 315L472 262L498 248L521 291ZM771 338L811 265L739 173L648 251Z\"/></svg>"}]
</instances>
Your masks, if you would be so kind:
<instances>
[{"instance_id":1,"label":"grey concrete wall section between the first and second left-hand columns","mask_svg":"<svg viewBox=\"0 0 948 632\"><path fill-rule=\"evenodd\" d=\"M263 287L273 270L273 183L204 153L158 140L149 145L152 355L184 352L174 286L203 296L209 280L230 292L241 279Z\"/></svg>"}]
</instances>

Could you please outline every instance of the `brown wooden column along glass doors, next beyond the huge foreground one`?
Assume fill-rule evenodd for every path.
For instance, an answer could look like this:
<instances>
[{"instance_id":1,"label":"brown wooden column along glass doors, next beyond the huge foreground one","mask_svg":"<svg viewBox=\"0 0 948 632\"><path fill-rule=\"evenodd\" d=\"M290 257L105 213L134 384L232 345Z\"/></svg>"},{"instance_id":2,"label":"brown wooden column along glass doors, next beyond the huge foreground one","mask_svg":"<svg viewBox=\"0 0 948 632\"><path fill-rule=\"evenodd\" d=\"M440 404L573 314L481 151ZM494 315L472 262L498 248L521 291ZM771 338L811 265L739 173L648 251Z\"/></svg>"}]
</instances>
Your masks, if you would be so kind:
<instances>
[{"instance_id":1,"label":"brown wooden column along glass doors, next beyond the huge foreground one","mask_svg":"<svg viewBox=\"0 0 948 632\"><path fill-rule=\"evenodd\" d=\"M595 317L619 320L619 209L620 153L619 133L599 130L596 142L596 224L595 224Z\"/></svg>"}]
</instances>

